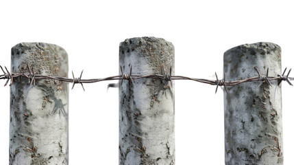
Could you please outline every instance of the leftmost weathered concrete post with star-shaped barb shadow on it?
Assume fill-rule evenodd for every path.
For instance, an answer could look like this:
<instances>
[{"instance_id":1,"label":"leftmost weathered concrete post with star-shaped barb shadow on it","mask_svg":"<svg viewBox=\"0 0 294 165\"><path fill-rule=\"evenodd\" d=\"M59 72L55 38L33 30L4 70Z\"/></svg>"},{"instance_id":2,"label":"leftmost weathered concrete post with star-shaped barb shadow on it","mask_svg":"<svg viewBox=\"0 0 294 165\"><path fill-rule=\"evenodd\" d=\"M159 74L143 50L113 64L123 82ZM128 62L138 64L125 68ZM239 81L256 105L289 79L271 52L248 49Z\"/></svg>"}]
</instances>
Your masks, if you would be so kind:
<instances>
[{"instance_id":1,"label":"leftmost weathered concrete post with star-shaped barb shadow on it","mask_svg":"<svg viewBox=\"0 0 294 165\"><path fill-rule=\"evenodd\" d=\"M12 72L67 77L67 54L47 43L20 43L12 47ZM34 84L34 83L33 83ZM10 164L68 164L67 83L27 78L10 87Z\"/></svg>"}]
</instances>

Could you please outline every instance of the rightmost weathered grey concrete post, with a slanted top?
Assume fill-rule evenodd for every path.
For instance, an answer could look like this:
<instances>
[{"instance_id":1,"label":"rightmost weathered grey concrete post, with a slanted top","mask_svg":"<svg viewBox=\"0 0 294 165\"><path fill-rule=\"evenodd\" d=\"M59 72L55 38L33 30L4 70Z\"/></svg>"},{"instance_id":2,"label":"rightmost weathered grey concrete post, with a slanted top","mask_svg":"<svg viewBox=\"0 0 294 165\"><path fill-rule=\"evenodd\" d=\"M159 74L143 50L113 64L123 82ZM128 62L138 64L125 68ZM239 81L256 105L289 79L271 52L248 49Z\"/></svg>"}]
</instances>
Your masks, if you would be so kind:
<instances>
[{"instance_id":1,"label":"rightmost weathered grey concrete post, with a slanted top","mask_svg":"<svg viewBox=\"0 0 294 165\"><path fill-rule=\"evenodd\" d=\"M227 80L281 73L281 48L273 43L234 47L224 54ZM228 88L225 102L225 164L283 164L282 98L278 81L271 86L242 83Z\"/></svg>"}]
</instances>

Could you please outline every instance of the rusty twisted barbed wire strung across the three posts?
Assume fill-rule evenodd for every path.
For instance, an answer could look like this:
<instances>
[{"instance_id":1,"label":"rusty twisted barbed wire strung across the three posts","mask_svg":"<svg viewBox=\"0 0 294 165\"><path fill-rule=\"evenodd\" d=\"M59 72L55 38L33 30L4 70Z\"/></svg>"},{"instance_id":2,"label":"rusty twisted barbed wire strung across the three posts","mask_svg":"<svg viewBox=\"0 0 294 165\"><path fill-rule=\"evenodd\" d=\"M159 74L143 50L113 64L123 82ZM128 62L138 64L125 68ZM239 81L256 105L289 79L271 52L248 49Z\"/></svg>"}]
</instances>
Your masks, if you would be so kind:
<instances>
[{"instance_id":1,"label":"rusty twisted barbed wire strung across the three posts","mask_svg":"<svg viewBox=\"0 0 294 165\"><path fill-rule=\"evenodd\" d=\"M0 65L0 67L1 67L1 65ZM204 78L189 78L186 76L172 76L171 67L169 69L169 73L167 73L163 67L163 74L162 75L160 75L160 74L134 75L134 74L132 74L132 66L130 68L130 74L125 74L123 72L122 67L121 67L121 75L119 75L119 76L110 76L107 78L82 79L82 74L83 74L84 70L81 72L79 77L75 77L72 72L73 78L64 78L64 77L60 77L60 76L45 76L45 75L41 75L41 74L35 74L34 67L32 67L32 70L31 70L29 68L29 65L27 65L27 71L29 72L28 74L26 74L26 73L10 73L6 67L5 67L5 70L6 70L6 72L5 72L3 67L1 67L3 74L0 75L0 79L3 79L3 80L7 79L4 87L6 85L8 85L9 80L10 80L10 86L11 86L13 81L15 80L15 78L27 78L29 80L29 85L32 85L33 83L34 83L34 85L36 85L36 80L42 80L42 79L59 80L59 81L66 82L66 83L73 83L73 86L71 89L73 89L73 87L75 87L75 84L81 84L82 88L84 89L83 83L98 83L98 82L106 81L106 80L122 80L121 85L123 83L123 80L128 80L129 83L132 83L132 85L134 85L134 80L141 79L141 78L154 78L154 79L164 80L165 81L164 87L167 87L167 88L169 87L168 86L169 83L171 83L171 87L173 87L171 80L193 80L198 83L217 85L217 87L215 89L215 93L217 93L218 87L222 87L222 86L224 87L225 91L228 93L227 86L239 85L241 83L249 83L249 82L259 81L260 83L259 83L258 87L260 87L260 85L262 85L262 83L264 83L264 82L266 82L267 84L272 86L271 85L272 80L278 80L278 85L280 85L280 83L283 80L286 81L287 83L289 83L289 85L292 85L290 80L294 80L294 78L289 77L291 69L289 70L288 74L285 75L286 69L287 69L287 68L285 68L282 76L280 74L278 74L278 76L269 76L269 68L267 68L267 74L260 74L260 72L258 71L258 69L256 67L254 67L254 69L256 70L258 76L246 78L244 80L233 80L233 81L225 80L226 73L224 74L223 79L219 80L219 78L217 76L217 72L215 72L215 76L216 76L217 80L208 80L208 79L204 79ZM115 87L115 85L109 85L108 87ZM84 91L85 91L85 89L84 89Z\"/></svg>"}]
</instances>

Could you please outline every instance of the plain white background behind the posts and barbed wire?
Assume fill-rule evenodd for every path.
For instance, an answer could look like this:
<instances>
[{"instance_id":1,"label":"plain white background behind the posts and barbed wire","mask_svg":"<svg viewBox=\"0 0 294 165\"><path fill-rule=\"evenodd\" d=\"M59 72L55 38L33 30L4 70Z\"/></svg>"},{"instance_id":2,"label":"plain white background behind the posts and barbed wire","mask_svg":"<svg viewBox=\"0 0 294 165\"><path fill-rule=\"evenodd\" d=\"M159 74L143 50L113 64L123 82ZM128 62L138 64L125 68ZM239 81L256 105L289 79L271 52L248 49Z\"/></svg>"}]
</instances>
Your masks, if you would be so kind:
<instances>
[{"instance_id":1,"label":"plain white background behind the posts and barbed wire","mask_svg":"<svg viewBox=\"0 0 294 165\"><path fill-rule=\"evenodd\" d=\"M0 65L10 67L10 49L17 43L45 42L64 47L69 73L84 69L83 78L114 76L121 41L156 36L175 46L176 75L222 77L223 52L258 41L282 47L284 69L294 67L293 7L286 1L248 0L1 1ZM119 96L118 89L106 92L108 83L70 91L70 164L119 164ZM294 87L282 84L287 165L294 162ZM9 87L0 87L0 164L8 164L9 102ZM215 86L177 80L176 164L224 164L223 120L221 90L215 94Z\"/></svg>"}]
</instances>

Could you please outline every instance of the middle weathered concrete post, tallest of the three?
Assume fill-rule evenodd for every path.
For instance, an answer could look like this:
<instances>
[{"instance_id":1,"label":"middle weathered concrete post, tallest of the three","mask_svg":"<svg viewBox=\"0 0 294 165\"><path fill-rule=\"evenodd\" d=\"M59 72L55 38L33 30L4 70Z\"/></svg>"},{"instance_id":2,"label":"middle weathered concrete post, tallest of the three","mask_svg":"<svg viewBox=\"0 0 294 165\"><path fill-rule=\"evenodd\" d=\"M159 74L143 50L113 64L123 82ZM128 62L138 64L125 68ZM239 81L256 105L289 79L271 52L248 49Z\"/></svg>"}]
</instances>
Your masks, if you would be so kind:
<instances>
[{"instance_id":1,"label":"middle weathered concrete post, tallest of the three","mask_svg":"<svg viewBox=\"0 0 294 165\"><path fill-rule=\"evenodd\" d=\"M174 71L174 47L164 39L126 39L119 47L124 74L161 74ZM120 82L121 83L121 82ZM175 98L164 80L144 78L119 87L119 164L174 164Z\"/></svg>"}]
</instances>

